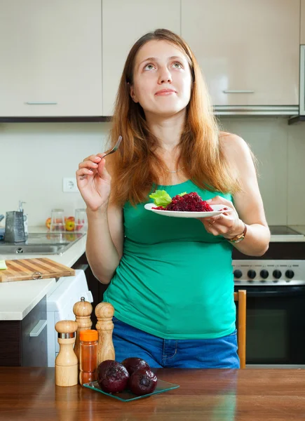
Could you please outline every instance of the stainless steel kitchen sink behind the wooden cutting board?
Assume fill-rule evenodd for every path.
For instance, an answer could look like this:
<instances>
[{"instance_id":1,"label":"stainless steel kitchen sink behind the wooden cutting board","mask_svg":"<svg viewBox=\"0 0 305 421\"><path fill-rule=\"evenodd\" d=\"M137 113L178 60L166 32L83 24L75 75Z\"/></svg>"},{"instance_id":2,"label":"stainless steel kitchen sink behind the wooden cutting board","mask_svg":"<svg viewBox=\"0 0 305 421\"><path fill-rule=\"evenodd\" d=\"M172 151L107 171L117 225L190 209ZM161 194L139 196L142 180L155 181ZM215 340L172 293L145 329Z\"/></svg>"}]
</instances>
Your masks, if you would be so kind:
<instances>
[{"instance_id":1,"label":"stainless steel kitchen sink behind the wooden cutting board","mask_svg":"<svg viewBox=\"0 0 305 421\"><path fill-rule=\"evenodd\" d=\"M55 255L65 253L83 233L29 234L27 241L8 243L0 241L0 255L35 254Z\"/></svg>"}]
</instances>

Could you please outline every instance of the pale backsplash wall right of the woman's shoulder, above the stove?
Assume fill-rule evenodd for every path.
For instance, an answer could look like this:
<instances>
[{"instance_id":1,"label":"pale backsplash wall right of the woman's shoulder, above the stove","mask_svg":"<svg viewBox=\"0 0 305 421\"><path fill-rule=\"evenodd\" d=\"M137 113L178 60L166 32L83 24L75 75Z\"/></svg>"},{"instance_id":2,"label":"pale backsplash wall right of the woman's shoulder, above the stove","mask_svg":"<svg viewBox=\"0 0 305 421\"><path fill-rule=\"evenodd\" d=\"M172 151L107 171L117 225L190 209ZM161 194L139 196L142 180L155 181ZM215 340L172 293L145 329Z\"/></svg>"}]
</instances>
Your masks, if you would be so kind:
<instances>
[{"instance_id":1,"label":"pale backsplash wall right of the woman's shoulder, above the stove","mask_svg":"<svg viewBox=\"0 0 305 421\"><path fill-rule=\"evenodd\" d=\"M269 225L305 224L305 123L280 117L226 117L222 126L249 143Z\"/></svg>"}]
</instances>

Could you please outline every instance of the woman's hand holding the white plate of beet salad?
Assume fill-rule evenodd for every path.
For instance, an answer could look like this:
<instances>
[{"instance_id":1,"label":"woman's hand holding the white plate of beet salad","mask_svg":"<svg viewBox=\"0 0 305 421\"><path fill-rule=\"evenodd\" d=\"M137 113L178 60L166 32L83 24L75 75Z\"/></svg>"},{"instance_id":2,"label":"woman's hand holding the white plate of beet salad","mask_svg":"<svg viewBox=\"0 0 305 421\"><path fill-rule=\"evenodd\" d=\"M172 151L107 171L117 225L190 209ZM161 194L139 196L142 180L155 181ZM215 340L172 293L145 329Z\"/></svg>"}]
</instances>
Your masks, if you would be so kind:
<instances>
[{"instance_id":1,"label":"woman's hand holding the white plate of beet salad","mask_svg":"<svg viewBox=\"0 0 305 421\"><path fill-rule=\"evenodd\" d=\"M231 201L224 199L222 196L215 196L207 202L209 205L224 205L224 208L229 206L232 209L211 218L198 218L210 234L222 235L226 239L233 239L233 237L242 234L245 224L239 219L236 208Z\"/></svg>"}]
</instances>

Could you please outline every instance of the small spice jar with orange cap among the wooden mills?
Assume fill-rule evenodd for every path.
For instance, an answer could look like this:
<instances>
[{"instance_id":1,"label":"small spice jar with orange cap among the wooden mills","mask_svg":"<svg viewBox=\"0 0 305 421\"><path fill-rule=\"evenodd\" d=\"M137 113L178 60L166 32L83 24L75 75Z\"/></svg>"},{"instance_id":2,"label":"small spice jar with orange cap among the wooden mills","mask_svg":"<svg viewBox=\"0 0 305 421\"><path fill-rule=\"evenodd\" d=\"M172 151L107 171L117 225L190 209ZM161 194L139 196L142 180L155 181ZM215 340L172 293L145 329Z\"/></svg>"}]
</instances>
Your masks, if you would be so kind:
<instances>
[{"instance_id":1,"label":"small spice jar with orange cap among the wooden mills","mask_svg":"<svg viewBox=\"0 0 305 421\"><path fill-rule=\"evenodd\" d=\"M79 382L96 380L97 368L97 330L81 330L79 333Z\"/></svg>"}]
</instances>

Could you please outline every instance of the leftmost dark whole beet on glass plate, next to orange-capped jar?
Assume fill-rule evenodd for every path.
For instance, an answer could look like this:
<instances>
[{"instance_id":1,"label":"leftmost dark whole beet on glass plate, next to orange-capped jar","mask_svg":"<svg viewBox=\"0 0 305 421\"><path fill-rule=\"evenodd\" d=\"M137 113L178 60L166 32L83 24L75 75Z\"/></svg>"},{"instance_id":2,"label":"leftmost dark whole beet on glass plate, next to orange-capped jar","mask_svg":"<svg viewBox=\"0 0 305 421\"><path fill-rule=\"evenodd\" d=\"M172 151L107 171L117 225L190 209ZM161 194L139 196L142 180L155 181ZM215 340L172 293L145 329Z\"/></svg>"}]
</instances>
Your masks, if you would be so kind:
<instances>
[{"instance_id":1,"label":"leftmost dark whole beet on glass plate, next to orange-capped jar","mask_svg":"<svg viewBox=\"0 0 305 421\"><path fill-rule=\"evenodd\" d=\"M97 382L104 392L122 392L127 386L128 379L128 371L117 361L102 361L97 367Z\"/></svg>"}]
</instances>

